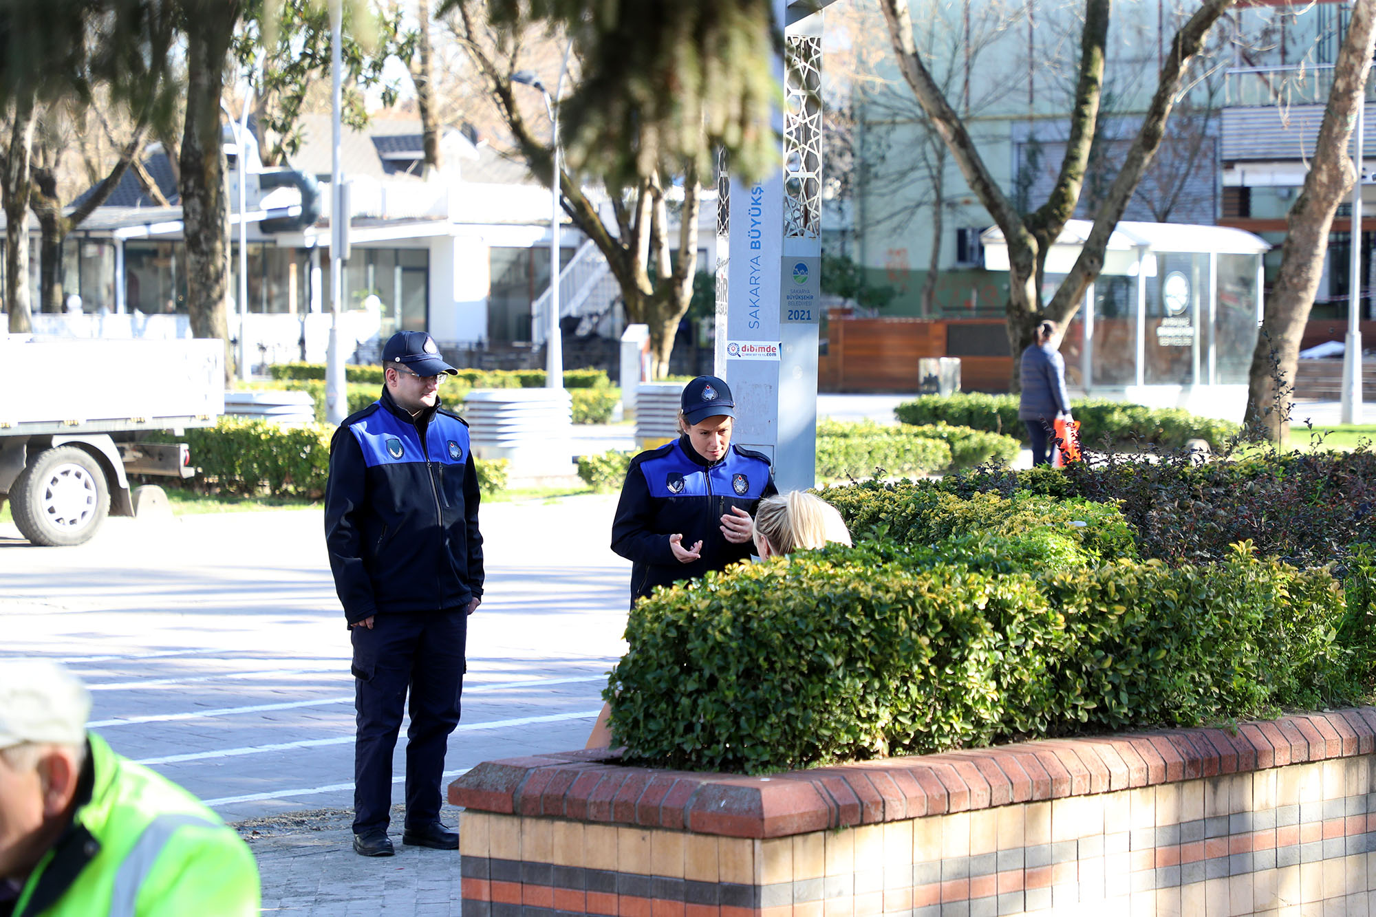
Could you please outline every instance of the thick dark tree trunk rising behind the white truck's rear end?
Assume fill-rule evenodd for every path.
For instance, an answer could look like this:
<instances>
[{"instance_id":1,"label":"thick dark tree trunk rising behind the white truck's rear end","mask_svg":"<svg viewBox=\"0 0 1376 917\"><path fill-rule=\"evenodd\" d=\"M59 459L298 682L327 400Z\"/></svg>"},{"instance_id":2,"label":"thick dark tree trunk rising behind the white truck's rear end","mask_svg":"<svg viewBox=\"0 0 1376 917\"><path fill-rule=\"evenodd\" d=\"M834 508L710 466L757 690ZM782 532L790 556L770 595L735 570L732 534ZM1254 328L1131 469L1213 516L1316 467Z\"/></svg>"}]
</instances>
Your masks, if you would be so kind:
<instances>
[{"instance_id":1,"label":"thick dark tree trunk rising behind the white truck's rear end","mask_svg":"<svg viewBox=\"0 0 1376 917\"><path fill-rule=\"evenodd\" d=\"M230 36L239 0L205 0L187 14L186 127L182 132L180 191L186 235L186 306L195 337L224 341L224 379L234 375L226 308L224 145L220 95Z\"/></svg>"}]
</instances>

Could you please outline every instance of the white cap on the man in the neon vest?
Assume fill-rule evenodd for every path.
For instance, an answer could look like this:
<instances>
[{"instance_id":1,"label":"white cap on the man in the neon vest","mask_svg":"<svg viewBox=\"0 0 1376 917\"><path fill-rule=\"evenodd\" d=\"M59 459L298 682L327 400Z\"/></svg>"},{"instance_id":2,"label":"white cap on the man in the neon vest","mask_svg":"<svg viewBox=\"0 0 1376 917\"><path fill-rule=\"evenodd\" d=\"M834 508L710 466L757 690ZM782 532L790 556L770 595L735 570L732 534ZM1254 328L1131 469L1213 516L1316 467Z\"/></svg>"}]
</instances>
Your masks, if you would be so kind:
<instances>
[{"instance_id":1,"label":"white cap on the man in the neon vest","mask_svg":"<svg viewBox=\"0 0 1376 917\"><path fill-rule=\"evenodd\" d=\"M0 660L0 749L85 742L91 694L48 660Z\"/></svg>"}]
</instances>

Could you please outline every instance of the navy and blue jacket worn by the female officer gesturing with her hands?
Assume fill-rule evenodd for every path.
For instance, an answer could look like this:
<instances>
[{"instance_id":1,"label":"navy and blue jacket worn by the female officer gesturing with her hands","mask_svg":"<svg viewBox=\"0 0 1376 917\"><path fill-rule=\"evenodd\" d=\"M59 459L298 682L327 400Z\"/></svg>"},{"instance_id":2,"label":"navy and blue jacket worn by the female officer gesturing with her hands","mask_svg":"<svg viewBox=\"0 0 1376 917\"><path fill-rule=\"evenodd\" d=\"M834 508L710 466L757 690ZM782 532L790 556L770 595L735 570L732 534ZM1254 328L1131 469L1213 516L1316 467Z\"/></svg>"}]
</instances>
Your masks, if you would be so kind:
<instances>
[{"instance_id":1,"label":"navy and blue jacket worn by the female officer gesturing with her hands","mask_svg":"<svg viewBox=\"0 0 1376 917\"><path fill-rule=\"evenodd\" d=\"M721 518L731 507L754 515L776 493L769 460L735 445L716 464L694 452L687 436L632 458L611 525L611 549L632 563L630 600L750 558L754 545L727 541ZM684 548L702 540L699 558L678 563L671 534L682 534Z\"/></svg>"}]
</instances>

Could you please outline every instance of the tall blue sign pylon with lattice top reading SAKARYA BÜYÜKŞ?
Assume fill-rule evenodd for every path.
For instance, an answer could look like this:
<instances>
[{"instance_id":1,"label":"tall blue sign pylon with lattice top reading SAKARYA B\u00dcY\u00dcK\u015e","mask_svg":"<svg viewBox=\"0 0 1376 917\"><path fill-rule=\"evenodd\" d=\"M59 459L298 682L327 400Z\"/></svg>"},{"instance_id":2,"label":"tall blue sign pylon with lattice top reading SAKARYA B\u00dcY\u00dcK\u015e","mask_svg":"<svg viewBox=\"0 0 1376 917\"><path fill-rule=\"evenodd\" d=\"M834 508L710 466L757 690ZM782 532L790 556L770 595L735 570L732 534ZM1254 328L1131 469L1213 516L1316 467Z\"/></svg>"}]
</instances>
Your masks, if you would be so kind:
<instances>
[{"instance_id":1,"label":"tall blue sign pylon with lattice top reading SAKARYA B\u00dcY\u00dcK\u015e","mask_svg":"<svg viewBox=\"0 0 1376 917\"><path fill-rule=\"evenodd\" d=\"M775 0L784 58L779 168L743 183L722 158L717 183L716 372L736 401L733 442L773 461L780 490L816 483L821 292L821 8Z\"/></svg>"}]
</instances>

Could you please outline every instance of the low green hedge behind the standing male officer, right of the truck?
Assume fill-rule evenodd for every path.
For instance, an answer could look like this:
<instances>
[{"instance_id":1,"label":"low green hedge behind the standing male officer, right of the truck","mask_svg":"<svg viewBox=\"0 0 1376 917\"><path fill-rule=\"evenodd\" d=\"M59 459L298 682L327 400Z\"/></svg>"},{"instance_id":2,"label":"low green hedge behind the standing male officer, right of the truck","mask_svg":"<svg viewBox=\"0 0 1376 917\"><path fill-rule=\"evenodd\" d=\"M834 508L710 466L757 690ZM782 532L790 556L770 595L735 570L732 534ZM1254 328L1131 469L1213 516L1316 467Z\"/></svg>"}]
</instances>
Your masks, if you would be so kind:
<instances>
[{"instance_id":1,"label":"low green hedge behind the standing male officer, right of the truck","mask_svg":"<svg viewBox=\"0 0 1376 917\"><path fill-rule=\"evenodd\" d=\"M325 496L334 427L282 427L256 417L220 417L215 427L187 428L186 443L201 475L191 485L211 493L244 497ZM505 458L477 460L484 494L506 487Z\"/></svg>"}]
</instances>

